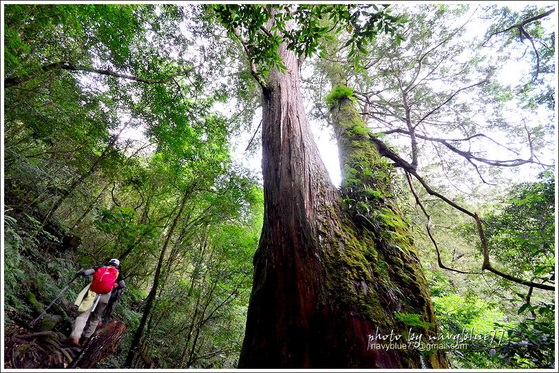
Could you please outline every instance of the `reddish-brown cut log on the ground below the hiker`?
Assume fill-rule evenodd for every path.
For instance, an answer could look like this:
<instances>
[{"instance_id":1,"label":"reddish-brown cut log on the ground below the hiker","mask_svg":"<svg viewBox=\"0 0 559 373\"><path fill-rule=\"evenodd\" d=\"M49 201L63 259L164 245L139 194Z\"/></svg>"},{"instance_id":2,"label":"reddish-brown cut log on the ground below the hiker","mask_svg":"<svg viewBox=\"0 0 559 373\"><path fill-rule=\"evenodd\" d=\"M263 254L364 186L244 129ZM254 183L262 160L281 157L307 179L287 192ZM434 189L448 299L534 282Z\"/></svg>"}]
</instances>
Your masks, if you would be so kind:
<instances>
[{"instance_id":1,"label":"reddish-brown cut log on the ground below the hiker","mask_svg":"<svg viewBox=\"0 0 559 373\"><path fill-rule=\"evenodd\" d=\"M96 363L103 361L110 354L114 354L125 330L126 325L116 320L111 321L104 328L96 330L81 354L68 367L84 369L94 367Z\"/></svg>"}]
</instances>

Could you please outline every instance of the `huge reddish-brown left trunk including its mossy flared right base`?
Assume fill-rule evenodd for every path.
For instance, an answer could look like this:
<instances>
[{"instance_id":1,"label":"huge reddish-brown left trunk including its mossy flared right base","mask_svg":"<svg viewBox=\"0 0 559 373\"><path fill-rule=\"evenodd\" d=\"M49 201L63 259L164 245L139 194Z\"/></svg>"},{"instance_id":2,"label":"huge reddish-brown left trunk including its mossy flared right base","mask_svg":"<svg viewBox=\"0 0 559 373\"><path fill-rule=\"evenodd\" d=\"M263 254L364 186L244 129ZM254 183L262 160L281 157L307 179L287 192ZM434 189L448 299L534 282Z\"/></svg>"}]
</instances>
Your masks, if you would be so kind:
<instances>
[{"instance_id":1,"label":"huge reddish-brown left trunk including its mossy flared right base","mask_svg":"<svg viewBox=\"0 0 559 373\"><path fill-rule=\"evenodd\" d=\"M297 58L285 45L279 54L288 70L272 71L262 94L264 226L239 367L447 367L443 354L371 348L369 335L408 334L394 312L435 323L421 265L405 229L396 248L343 204L310 132ZM414 330L426 338L436 324Z\"/></svg>"}]
</instances>

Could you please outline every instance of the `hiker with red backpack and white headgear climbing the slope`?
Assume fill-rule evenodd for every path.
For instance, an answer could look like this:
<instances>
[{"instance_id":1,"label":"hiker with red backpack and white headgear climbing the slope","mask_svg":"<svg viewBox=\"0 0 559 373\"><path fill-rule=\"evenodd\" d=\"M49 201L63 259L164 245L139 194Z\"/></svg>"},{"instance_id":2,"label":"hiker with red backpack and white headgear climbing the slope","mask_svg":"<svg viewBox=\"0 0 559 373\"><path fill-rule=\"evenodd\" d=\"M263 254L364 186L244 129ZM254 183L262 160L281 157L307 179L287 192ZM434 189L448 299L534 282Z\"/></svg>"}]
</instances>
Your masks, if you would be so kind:
<instances>
[{"instance_id":1,"label":"hiker with red backpack and white headgear climbing the slope","mask_svg":"<svg viewBox=\"0 0 559 373\"><path fill-rule=\"evenodd\" d=\"M119 289L125 287L124 280L118 272L118 266L120 266L120 261L111 259L106 266L88 270L81 269L76 273L81 276L93 275L93 281L83 288L74 303L78 306L80 314L74 321L70 334L70 345L80 346L87 343L109 303L113 288L115 286Z\"/></svg>"}]
</instances>

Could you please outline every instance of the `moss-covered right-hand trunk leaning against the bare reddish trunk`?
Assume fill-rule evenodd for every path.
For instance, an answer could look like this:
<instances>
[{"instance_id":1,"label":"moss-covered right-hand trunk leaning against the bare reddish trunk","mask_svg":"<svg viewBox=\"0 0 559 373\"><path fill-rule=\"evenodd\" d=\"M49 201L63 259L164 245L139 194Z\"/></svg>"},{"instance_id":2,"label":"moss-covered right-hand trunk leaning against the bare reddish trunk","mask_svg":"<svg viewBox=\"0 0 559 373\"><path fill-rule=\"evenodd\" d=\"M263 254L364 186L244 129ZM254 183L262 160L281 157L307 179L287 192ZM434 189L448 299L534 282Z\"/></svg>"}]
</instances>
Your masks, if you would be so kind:
<instances>
[{"instance_id":1,"label":"moss-covered right-hand trunk leaning against the bare reddish trunk","mask_svg":"<svg viewBox=\"0 0 559 373\"><path fill-rule=\"evenodd\" d=\"M364 265L370 269L367 279L372 279L386 315L379 326L385 332L379 334L393 330L406 343L411 330L429 343L428 337L435 336L439 327L408 222L394 195L391 167L370 140L372 135L355 109L350 89L335 87L328 101L339 148L344 207L352 216L357 237L368 237L360 240ZM423 355L412 348L401 351L401 357L405 361L401 367L448 366L443 352Z\"/></svg>"}]
</instances>

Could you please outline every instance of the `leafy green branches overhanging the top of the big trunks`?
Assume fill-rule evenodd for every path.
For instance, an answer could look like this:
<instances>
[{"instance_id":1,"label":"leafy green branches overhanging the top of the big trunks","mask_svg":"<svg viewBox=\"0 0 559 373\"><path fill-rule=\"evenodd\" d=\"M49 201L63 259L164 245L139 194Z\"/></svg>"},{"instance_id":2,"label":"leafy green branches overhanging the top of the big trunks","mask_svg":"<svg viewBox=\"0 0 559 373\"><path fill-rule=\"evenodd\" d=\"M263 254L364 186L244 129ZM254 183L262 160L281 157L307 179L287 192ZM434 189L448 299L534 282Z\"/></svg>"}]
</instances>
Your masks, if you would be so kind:
<instances>
[{"instance_id":1,"label":"leafy green branches overhanging the top of the big trunks","mask_svg":"<svg viewBox=\"0 0 559 373\"><path fill-rule=\"evenodd\" d=\"M220 23L229 31L231 37L246 37L249 45L249 58L260 66L266 76L271 68L285 70L277 54L280 44L286 43L289 50L297 56L326 56L322 39L332 39L330 32L348 32L347 46L351 47L350 57L355 58L356 69L360 68L359 53L366 52L364 47L375 40L379 33L396 35L398 43L405 40L397 34L404 22L401 17L390 15L388 6L376 5L338 5L338 4L294 4L294 5L209 5ZM269 31L265 26L271 22ZM334 27L328 27L326 22ZM295 27L291 24L295 23ZM245 31L246 30L246 31ZM236 36L235 36L236 34Z\"/></svg>"}]
</instances>

